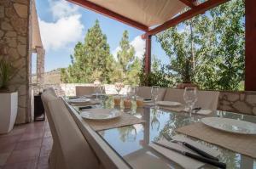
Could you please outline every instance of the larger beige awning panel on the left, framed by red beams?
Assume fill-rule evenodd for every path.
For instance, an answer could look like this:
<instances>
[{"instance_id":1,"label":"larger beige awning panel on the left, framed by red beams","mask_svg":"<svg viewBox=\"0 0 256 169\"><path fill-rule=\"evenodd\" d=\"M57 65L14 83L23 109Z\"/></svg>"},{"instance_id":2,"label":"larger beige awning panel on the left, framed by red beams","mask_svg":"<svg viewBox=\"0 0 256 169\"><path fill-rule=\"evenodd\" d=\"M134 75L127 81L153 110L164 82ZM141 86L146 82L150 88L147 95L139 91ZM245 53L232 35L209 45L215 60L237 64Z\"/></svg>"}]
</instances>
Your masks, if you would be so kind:
<instances>
[{"instance_id":1,"label":"larger beige awning panel on the left, framed by red beams","mask_svg":"<svg viewBox=\"0 0 256 169\"><path fill-rule=\"evenodd\" d=\"M179 0L88 0L138 23L160 25L187 6Z\"/></svg>"}]
</instances>

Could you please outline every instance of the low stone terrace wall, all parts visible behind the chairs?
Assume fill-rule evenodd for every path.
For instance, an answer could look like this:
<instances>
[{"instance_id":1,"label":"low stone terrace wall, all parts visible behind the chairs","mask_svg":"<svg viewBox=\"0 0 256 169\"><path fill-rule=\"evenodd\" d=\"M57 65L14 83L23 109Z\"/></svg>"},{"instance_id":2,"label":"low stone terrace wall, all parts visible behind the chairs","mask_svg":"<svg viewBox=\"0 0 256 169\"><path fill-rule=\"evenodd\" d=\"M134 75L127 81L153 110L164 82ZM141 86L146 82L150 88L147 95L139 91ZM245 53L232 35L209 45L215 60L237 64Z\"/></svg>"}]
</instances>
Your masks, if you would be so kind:
<instances>
[{"instance_id":1,"label":"low stone terrace wall, all parts visible behind the chairs","mask_svg":"<svg viewBox=\"0 0 256 169\"><path fill-rule=\"evenodd\" d=\"M76 95L76 86L93 86L93 84L88 83L62 83L59 85L56 84L47 84L46 87L53 87L55 92L59 96L75 96ZM116 93L114 85L106 84L105 90L107 94ZM34 89L35 90L35 89ZM127 92L127 87L124 87L121 94ZM34 93L38 93L38 90L35 90ZM256 91L243 91L243 92L229 92L229 91L220 91L218 98L218 110L232 111L241 114L247 115L256 115Z\"/></svg>"}]
</instances>

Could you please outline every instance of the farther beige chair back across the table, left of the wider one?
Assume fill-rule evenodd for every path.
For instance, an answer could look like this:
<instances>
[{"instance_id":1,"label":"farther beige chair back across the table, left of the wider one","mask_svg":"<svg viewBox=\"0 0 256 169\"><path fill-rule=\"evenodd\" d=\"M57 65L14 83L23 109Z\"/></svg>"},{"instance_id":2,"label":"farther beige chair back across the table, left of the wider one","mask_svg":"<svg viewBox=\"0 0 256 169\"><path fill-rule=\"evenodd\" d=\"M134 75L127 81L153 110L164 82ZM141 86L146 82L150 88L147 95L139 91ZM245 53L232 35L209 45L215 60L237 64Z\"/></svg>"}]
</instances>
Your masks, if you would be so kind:
<instances>
[{"instance_id":1,"label":"farther beige chair back across the table, left of the wider one","mask_svg":"<svg viewBox=\"0 0 256 169\"><path fill-rule=\"evenodd\" d=\"M166 88L161 88L159 90L158 101L164 99L166 94ZM138 87L137 96L144 99L151 99L151 87Z\"/></svg>"}]
</instances>

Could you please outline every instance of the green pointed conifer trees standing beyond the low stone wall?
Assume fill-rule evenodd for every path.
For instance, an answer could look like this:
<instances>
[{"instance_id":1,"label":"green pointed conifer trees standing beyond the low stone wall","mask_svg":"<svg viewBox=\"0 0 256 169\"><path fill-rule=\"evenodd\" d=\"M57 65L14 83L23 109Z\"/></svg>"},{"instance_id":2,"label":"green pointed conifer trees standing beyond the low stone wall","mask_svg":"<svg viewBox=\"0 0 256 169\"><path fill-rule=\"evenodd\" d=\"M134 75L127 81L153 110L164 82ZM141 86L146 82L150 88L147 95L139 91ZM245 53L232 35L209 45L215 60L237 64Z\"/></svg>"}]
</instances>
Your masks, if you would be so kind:
<instances>
[{"instance_id":1,"label":"green pointed conifer trees standing beyond the low stone wall","mask_svg":"<svg viewBox=\"0 0 256 169\"><path fill-rule=\"evenodd\" d=\"M106 83L122 79L125 84L138 84L141 61L135 57L128 31L124 31L119 46L116 61L110 54L107 37L96 20L88 30L84 43L76 44L74 54L70 56L72 65L61 69L61 82L94 82L97 78Z\"/></svg>"}]
</instances>

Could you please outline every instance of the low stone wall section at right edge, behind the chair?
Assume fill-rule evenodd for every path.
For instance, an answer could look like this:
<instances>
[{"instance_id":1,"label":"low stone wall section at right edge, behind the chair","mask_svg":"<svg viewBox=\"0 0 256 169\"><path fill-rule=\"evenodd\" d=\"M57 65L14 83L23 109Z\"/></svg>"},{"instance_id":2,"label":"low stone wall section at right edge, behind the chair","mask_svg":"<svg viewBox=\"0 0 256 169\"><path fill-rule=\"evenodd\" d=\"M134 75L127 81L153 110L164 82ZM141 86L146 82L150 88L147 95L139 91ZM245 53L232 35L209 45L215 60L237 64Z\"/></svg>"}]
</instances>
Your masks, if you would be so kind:
<instances>
[{"instance_id":1,"label":"low stone wall section at right edge, behind the chair","mask_svg":"<svg viewBox=\"0 0 256 169\"><path fill-rule=\"evenodd\" d=\"M247 115L256 115L256 92L220 91L218 110L232 111Z\"/></svg>"}]
</instances>

